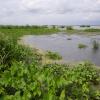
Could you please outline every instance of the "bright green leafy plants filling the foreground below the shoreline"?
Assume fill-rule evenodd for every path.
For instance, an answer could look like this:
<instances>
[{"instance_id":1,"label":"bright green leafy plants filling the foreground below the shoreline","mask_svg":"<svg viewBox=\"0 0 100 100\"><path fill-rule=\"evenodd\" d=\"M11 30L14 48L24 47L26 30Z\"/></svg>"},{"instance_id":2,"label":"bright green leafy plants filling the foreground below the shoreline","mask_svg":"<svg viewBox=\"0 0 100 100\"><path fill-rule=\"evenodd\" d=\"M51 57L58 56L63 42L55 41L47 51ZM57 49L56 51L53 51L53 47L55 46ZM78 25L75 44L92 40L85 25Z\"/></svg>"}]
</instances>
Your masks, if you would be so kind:
<instances>
[{"instance_id":1,"label":"bright green leafy plants filling the foreground below the shoreline","mask_svg":"<svg viewBox=\"0 0 100 100\"><path fill-rule=\"evenodd\" d=\"M4 100L94 100L100 99L100 71L91 64L73 67L13 62L0 75L0 97Z\"/></svg>"}]
</instances>

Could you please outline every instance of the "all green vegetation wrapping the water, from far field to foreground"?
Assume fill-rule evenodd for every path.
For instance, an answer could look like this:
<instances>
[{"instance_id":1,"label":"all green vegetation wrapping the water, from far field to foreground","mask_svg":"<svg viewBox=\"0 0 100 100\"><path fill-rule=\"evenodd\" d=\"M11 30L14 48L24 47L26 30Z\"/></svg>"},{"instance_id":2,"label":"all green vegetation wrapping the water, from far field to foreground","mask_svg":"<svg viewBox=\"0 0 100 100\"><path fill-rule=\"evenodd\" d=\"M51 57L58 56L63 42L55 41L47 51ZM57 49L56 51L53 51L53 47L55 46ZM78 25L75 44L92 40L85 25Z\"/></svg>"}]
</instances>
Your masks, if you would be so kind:
<instances>
[{"instance_id":1,"label":"all green vegetation wrapping the water, from far field to foreground","mask_svg":"<svg viewBox=\"0 0 100 100\"><path fill-rule=\"evenodd\" d=\"M87 62L42 64L36 50L17 44L20 36L44 34L43 30L48 31L0 29L0 100L100 100L99 68Z\"/></svg>"}]
</instances>

